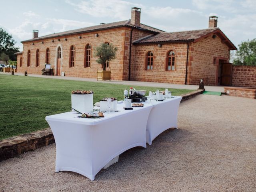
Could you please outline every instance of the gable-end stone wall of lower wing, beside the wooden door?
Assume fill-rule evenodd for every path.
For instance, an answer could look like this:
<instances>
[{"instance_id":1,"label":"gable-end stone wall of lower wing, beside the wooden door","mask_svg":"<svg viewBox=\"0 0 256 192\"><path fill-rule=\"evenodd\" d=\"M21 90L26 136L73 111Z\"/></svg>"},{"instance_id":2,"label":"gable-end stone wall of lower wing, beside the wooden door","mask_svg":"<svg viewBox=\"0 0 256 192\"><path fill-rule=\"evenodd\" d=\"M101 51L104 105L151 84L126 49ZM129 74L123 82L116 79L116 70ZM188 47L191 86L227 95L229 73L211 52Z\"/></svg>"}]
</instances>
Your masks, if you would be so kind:
<instances>
[{"instance_id":1,"label":"gable-end stone wall of lower wing, beside the wooden door","mask_svg":"<svg viewBox=\"0 0 256 192\"><path fill-rule=\"evenodd\" d=\"M198 84L203 79L204 85L217 85L219 59L228 62L229 54L228 46L218 36L208 36L192 43L189 51L188 84Z\"/></svg>"}]
</instances>

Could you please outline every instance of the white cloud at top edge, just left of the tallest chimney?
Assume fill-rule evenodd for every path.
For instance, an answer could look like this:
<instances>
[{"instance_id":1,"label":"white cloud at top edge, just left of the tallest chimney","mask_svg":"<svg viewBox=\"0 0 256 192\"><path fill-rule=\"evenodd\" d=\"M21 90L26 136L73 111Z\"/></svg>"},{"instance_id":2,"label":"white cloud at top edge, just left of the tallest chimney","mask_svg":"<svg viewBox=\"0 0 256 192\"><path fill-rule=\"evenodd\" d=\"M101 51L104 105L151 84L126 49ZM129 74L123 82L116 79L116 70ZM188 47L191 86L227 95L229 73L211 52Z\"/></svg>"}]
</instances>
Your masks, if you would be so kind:
<instances>
[{"instance_id":1,"label":"white cloud at top edge, just left of the tallest chimney","mask_svg":"<svg viewBox=\"0 0 256 192\"><path fill-rule=\"evenodd\" d=\"M118 18L118 20L128 20L131 7L143 8L142 4L135 4L124 0L88 0L73 3L66 0L66 3L74 6L78 12L99 18Z\"/></svg>"}]
</instances>

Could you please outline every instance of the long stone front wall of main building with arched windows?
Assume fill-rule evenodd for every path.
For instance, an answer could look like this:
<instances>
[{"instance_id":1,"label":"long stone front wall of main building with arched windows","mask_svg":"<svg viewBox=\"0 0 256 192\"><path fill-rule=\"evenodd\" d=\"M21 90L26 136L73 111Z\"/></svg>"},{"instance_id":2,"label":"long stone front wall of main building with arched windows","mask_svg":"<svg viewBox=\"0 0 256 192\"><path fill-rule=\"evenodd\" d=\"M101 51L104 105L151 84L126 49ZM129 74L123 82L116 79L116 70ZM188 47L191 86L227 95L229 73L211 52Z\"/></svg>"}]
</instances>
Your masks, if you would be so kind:
<instances>
[{"instance_id":1,"label":"long stone front wall of main building with arched windows","mask_svg":"<svg viewBox=\"0 0 256 192\"><path fill-rule=\"evenodd\" d=\"M24 73L25 70L32 74L42 74L41 70L45 66L46 62L46 49L50 49L50 64L51 67L56 69L57 63L57 50L60 46L62 49L61 58L61 71L65 72L66 76L77 76L84 78L96 78L97 70L101 70L101 65L96 62L96 57L93 56L94 49L101 43L109 42L118 48L116 59L110 62L111 79L123 80L123 59L127 56L124 55L125 51L128 50L128 45L124 44L124 41L128 41L126 37L126 30L129 28L116 28L109 30L101 30L97 32L88 32L84 34L66 35L56 38L48 38L44 40L38 40L34 42L23 43L23 54L22 54L22 67L18 68L18 72ZM98 34L98 37L95 36ZM129 33L130 35L130 33ZM82 37L81 39L79 37ZM65 40L65 38L67 40ZM60 41L58 41L60 39ZM52 42L52 40L54 42ZM44 42L42 44L42 42ZM34 43L34 45L32 44ZM84 48L86 44L91 44L91 66L84 68ZM74 67L69 67L70 62L70 47L75 46L75 64ZM40 60L39 66L36 67L36 50L39 49ZM28 50L31 52L31 64L27 67L27 53ZM127 59L127 58L126 58ZM19 63L19 61L18 61ZM107 68L107 70L109 70ZM56 70L54 70L56 74Z\"/></svg>"}]
</instances>

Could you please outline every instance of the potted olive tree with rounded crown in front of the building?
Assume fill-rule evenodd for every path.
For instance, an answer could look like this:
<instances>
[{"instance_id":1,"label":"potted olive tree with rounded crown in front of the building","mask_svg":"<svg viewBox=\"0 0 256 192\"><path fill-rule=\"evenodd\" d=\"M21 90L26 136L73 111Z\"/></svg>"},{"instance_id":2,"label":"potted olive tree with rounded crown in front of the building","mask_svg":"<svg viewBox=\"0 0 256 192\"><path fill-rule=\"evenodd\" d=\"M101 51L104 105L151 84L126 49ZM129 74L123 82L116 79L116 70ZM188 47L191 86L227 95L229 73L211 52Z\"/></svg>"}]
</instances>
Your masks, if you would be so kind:
<instances>
[{"instance_id":1,"label":"potted olive tree with rounded crown in front of the building","mask_svg":"<svg viewBox=\"0 0 256 192\"><path fill-rule=\"evenodd\" d=\"M102 68L106 70L106 62L116 58L117 47L112 44L102 43L99 47L96 47L95 56L98 57L97 63L102 64Z\"/></svg>"}]
</instances>

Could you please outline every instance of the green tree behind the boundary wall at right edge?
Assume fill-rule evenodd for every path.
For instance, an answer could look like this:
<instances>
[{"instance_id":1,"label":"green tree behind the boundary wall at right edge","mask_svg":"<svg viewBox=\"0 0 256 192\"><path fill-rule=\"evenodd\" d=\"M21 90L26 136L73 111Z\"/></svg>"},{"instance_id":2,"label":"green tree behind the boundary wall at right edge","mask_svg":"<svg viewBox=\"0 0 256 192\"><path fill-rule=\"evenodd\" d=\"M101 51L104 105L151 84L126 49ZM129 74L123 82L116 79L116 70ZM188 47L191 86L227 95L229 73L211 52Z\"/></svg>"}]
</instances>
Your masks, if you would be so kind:
<instances>
[{"instance_id":1,"label":"green tree behind the boundary wall at right edge","mask_svg":"<svg viewBox=\"0 0 256 192\"><path fill-rule=\"evenodd\" d=\"M233 64L256 66L256 39L238 45Z\"/></svg>"}]
</instances>

